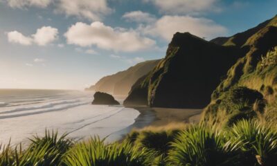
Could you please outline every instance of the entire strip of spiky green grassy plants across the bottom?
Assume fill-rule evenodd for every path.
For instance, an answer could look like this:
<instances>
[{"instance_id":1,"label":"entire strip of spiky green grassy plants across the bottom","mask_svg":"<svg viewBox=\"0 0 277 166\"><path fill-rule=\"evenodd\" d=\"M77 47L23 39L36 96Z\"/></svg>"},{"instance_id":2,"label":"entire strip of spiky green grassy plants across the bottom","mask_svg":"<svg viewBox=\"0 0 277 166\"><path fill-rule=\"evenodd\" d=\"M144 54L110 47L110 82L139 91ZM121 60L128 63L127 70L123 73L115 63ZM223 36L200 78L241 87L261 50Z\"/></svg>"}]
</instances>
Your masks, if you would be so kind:
<instances>
[{"instance_id":1,"label":"entire strip of spiky green grassy plants across the bottom","mask_svg":"<svg viewBox=\"0 0 277 166\"><path fill-rule=\"evenodd\" d=\"M31 139L26 149L1 145L0 165L267 166L277 162L277 133L272 125L240 120L229 128L207 124L170 128L137 130L132 139L109 144L98 137L73 142L46 131L45 136Z\"/></svg>"}]
</instances>

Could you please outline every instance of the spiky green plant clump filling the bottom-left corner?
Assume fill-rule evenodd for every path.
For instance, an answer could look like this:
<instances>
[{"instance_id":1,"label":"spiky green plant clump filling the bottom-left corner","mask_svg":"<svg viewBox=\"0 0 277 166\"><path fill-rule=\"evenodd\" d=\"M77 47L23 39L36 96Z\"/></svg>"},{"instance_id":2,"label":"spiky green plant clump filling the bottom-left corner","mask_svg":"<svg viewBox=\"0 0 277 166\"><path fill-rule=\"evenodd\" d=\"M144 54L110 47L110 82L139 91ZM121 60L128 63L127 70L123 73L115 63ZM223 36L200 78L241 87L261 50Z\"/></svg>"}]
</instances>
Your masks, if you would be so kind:
<instances>
[{"instance_id":1,"label":"spiky green plant clump filling the bottom-left corner","mask_svg":"<svg viewBox=\"0 0 277 166\"><path fill-rule=\"evenodd\" d=\"M3 147L0 154L0 165L16 166L55 166L60 165L63 154L73 145L71 140L66 139L66 134L60 138L57 132L45 131L45 136L35 136L30 139L31 143L26 150L19 148L12 149L10 144Z\"/></svg>"}]
</instances>

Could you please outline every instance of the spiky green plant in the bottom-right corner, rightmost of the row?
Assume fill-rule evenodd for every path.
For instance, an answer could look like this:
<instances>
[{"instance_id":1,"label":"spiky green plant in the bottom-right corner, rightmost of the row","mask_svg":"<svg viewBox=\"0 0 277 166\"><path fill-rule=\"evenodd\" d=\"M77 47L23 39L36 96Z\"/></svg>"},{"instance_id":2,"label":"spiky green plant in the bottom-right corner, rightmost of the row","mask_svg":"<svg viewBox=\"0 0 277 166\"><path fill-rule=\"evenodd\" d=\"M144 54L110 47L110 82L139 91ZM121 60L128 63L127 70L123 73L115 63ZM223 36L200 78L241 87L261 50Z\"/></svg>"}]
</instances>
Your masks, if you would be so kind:
<instances>
[{"instance_id":1,"label":"spiky green plant in the bottom-right corner, rightmost of the row","mask_svg":"<svg viewBox=\"0 0 277 166\"><path fill-rule=\"evenodd\" d=\"M231 141L239 142L243 165L276 165L277 133L269 126L253 120L233 125Z\"/></svg>"}]
</instances>

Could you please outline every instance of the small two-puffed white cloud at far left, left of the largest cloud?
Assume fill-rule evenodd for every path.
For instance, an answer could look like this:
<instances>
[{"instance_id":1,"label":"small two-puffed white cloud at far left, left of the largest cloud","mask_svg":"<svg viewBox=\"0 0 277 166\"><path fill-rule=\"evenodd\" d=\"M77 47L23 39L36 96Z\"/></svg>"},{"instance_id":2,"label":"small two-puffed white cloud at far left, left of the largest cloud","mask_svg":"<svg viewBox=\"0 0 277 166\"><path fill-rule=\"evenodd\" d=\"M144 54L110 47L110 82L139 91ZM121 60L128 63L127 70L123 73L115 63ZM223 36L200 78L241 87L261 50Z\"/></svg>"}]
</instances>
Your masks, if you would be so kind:
<instances>
[{"instance_id":1,"label":"small two-puffed white cloud at far left, left of the largest cloud","mask_svg":"<svg viewBox=\"0 0 277 166\"><path fill-rule=\"evenodd\" d=\"M29 46L31 44L46 46L57 39L57 34L57 28L52 28L51 26L43 26L42 28L37 29L35 34L30 36L25 36L17 31L7 33L8 42L22 44L25 46Z\"/></svg>"}]
</instances>

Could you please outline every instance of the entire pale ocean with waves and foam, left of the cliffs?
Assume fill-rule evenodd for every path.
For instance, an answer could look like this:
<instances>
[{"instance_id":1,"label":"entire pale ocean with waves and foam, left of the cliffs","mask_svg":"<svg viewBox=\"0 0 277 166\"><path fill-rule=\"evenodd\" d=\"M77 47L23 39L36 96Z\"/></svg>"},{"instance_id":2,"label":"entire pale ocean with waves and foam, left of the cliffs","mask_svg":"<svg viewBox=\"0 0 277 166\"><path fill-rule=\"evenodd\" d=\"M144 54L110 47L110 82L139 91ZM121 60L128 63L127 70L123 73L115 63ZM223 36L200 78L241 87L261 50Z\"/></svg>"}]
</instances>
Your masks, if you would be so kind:
<instances>
[{"instance_id":1,"label":"entire pale ocean with waves and foam, left of the cliffs","mask_svg":"<svg viewBox=\"0 0 277 166\"><path fill-rule=\"evenodd\" d=\"M46 129L75 140L100 136L112 142L140 114L123 106L91 105L92 100L93 92L85 91L0 89L0 144L28 143Z\"/></svg>"}]
</instances>

